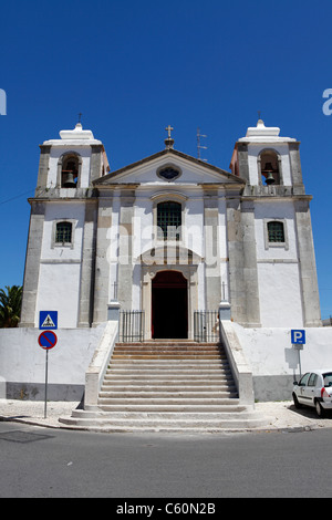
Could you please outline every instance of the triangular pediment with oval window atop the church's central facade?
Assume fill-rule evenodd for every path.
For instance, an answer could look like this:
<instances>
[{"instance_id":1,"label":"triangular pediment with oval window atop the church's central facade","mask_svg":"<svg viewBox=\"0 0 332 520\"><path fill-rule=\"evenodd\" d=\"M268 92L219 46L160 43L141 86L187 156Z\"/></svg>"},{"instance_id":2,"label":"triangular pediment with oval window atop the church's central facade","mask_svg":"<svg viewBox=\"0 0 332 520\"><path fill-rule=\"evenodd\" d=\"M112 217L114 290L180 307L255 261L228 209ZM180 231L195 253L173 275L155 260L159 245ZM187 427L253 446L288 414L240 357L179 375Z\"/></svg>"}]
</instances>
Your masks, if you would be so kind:
<instances>
[{"instance_id":1,"label":"triangular pediment with oval window atop the church's central facade","mask_svg":"<svg viewBox=\"0 0 332 520\"><path fill-rule=\"evenodd\" d=\"M237 184L245 185L239 177L204 163L181 152L164 149L133 163L94 181L94 186L116 184Z\"/></svg>"}]
</instances>

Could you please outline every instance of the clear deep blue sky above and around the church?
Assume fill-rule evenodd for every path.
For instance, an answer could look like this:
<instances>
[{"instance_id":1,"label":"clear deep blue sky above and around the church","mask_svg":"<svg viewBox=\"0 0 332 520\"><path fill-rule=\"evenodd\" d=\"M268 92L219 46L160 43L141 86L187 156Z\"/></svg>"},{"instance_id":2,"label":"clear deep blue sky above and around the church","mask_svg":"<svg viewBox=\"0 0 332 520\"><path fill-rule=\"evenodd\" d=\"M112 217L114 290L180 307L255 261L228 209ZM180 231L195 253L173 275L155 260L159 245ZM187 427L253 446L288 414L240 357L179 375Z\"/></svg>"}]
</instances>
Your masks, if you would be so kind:
<instances>
[{"instance_id":1,"label":"clear deep blue sky above and around the church","mask_svg":"<svg viewBox=\"0 0 332 520\"><path fill-rule=\"evenodd\" d=\"M257 123L301 141L322 318L332 315L331 0L56 0L2 2L0 287L23 281L39 144L84 128L112 170L164 148L229 169L234 145Z\"/></svg>"}]
</instances>

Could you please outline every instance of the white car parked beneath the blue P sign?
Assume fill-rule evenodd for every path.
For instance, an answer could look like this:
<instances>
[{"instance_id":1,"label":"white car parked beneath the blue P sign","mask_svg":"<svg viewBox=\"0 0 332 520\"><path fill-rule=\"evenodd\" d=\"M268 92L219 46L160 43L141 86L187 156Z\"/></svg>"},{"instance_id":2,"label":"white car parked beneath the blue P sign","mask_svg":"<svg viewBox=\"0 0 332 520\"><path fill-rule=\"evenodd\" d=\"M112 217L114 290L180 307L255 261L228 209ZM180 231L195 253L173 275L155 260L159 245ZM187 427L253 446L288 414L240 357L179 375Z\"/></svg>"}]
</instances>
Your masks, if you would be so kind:
<instances>
[{"instance_id":1,"label":"white car parked beneath the blue P sign","mask_svg":"<svg viewBox=\"0 0 332 520\"><path fill-rule=\"evenodd\" d=\"M315 408L319 417L332 409L332 370L307 372L293 383L293 402L297 408L303 405Z\"/></svg>"}]
</instances>

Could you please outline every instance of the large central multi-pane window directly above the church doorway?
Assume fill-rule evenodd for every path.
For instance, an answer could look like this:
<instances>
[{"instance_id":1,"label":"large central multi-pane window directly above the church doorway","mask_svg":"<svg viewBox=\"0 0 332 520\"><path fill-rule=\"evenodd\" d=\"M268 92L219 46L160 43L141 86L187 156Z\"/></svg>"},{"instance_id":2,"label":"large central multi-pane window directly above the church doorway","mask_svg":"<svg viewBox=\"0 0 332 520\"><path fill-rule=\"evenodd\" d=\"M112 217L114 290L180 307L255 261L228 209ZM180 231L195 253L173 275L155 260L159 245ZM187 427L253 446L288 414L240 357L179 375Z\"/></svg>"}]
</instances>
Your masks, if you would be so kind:
<instances>
[{"instance_id":1,"label":"large central multi-pane window directly above the church doorway","mask_svg":"<svg viewBox=\"0 0 332 520\"><path fill-rule=\"evenodd\" d=\"M157 206L157 238L159 240L179 240L183 208L179 202L167 200Z\"/></svg>"}]
</instances>

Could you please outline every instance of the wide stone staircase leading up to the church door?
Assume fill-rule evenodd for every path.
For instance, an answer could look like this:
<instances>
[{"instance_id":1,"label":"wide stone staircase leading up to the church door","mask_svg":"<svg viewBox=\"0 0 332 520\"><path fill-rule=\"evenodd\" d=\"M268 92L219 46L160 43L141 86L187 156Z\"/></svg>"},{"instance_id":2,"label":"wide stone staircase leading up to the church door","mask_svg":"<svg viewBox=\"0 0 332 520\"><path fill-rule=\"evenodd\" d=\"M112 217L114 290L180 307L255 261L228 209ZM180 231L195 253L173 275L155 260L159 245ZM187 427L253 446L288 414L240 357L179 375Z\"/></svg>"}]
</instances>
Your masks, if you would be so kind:
<instances>
[{"instance_id":1,"label":"wide stone staircase leading up to the church door","mask_svg":"<svg viewBox=\"0 0 332 520\"><path fill-rule=\"evenodd\" d=\"M255 428L222 346L185 340L117 343L96 407L60 422L108 431L218 431Z\"/></svg>"}]
</instances>

